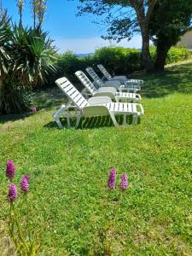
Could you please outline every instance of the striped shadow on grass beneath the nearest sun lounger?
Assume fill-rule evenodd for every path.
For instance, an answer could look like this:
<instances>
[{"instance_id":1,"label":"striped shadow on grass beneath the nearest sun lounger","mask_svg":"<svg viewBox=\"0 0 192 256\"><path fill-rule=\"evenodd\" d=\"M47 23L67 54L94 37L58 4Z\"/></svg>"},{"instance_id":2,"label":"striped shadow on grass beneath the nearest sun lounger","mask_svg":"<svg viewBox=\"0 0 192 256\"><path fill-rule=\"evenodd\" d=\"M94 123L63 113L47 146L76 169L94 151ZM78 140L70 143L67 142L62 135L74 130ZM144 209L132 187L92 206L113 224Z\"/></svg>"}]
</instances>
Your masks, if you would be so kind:
<instances>
[{"instance_id":1,"label":"striped shadow on grass beneath the nearest sun lounger","mask_svg":"<svg viewBox=\"0 0 192 256\"><path fill-rule=\"evenodd\" d=\"M117 116L116 117L117 122L119 125L122 125L123 123L123 116ZM132 122L132 116L127 117L127 121L129 124ZM75 127L76 119L70 119L71 127ZM140 118L138 119L138 124L140 123ZM63 128L67 128L67 119L62 118L61 124L63 125ZM90 118L82 118L79 123L79 130L86 130L86 129L95 129L95 128L101 128L101 127L112 127L113 121L109 116L100 116L100 117L90 117ZM49 122L48 124L44 125L45 128L48 129L54 129L58 128L55 121ZM59 128L58 128L59 129Z\"/></svg>"}]
</instances>

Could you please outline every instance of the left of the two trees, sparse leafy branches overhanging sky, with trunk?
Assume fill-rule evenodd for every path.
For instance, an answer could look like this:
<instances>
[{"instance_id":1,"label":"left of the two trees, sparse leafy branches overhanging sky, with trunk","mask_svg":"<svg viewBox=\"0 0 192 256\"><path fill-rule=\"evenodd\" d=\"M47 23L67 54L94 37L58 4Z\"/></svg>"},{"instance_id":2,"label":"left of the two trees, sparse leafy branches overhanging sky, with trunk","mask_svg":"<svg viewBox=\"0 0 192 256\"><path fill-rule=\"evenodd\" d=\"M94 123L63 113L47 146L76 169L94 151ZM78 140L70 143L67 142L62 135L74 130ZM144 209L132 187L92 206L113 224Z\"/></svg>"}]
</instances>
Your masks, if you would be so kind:
<instances>
[{"instance_id":1,"label":"left of the two trees, sparse leafy branches overhanging sky, with trunk","mask_svg":"<svg viewBox=\"0 0 192 256\"><path fill-rule=\"evenodd\" d=\"M79 15L92 13L104 15L104 25L108 26L107 35L103 38L121 40L130 39L140 31L143 37L143 64L147 71L154 68L149 53L148 23L158 0L79 0Z\"/></svg>"}]
</instances>

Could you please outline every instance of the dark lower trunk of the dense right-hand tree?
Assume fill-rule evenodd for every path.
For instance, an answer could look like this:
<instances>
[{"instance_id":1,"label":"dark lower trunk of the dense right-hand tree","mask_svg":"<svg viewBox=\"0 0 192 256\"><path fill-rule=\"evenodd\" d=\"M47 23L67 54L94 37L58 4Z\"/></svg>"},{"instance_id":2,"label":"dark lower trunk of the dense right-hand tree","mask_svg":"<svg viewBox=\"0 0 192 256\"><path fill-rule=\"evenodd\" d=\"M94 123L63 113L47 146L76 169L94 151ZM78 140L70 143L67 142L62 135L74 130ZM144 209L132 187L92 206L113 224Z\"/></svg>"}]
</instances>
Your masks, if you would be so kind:
<instances>
[{"instance_id":1,"label":"dark lower trunk of the dense right-hand tree","mask_svg":"<svg viewBox=\"0 0 192 256\"><path fill-rule=\"evenodd\" d=\"M169 48L164 48L162 45L157 45L157 54L156 59L154 62L154 69L156 71L164 71L165 65L166 65L166 56L169 51Z\"/></svg>"}]
</instances>

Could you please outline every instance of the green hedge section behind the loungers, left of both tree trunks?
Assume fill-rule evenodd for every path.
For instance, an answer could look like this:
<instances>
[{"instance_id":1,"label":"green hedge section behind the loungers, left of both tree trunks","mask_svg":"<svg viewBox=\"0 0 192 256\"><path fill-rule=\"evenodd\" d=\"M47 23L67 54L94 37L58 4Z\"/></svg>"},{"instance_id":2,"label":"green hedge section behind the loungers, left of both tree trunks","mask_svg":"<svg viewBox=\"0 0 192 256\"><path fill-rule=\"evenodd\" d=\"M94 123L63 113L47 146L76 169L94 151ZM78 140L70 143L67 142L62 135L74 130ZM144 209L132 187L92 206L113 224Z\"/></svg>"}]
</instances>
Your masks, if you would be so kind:
<instances>
[{"instance_id":1,"label":"green hedge section behind the loungers, left of both tree trunks","mask_svg":"<svg viewBox=\"0 0 192 256\"><path fill-rule=\"evenodd\" d=\"M55 84L55 79L66 76L76 87L81 90L82 84L74 73L78 70L85 71L86 67L94 67L103 64L112 74L127 74L142 68L141 55L137 49L126 49L123 47L102 47L96 49L94 55L78 57L72 51L59 55L56 65L58 72L50 77L49 85ZM99 72L99 70L97 70ZM88 75L89 76L89 75Z\"/></svg>"}]
</instances>

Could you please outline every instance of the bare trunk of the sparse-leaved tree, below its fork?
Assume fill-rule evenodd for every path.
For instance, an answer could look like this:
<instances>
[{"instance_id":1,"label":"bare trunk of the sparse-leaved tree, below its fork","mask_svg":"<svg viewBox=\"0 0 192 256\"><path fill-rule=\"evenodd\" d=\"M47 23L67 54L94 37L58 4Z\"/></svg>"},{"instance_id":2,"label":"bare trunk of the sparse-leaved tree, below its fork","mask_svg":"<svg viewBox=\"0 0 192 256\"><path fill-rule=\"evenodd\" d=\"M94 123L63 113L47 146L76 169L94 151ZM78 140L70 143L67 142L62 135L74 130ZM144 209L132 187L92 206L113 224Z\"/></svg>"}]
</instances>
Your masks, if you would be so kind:
<instances>
[{"instance_id":1,"label":"bare trunk of the sparse-leaved tree, below its fork","mask_svg":"<svg viewBox=\"0 0 192 256\"><path fill-rule=\"evenodd\" d=\"M143 65L145 67L146 72L154 71L154 62L151 59L150 51L149 51L149 32L146 27L143 27L142 30L142 57L143 57Z\"/></svg>"}]
</instances>

